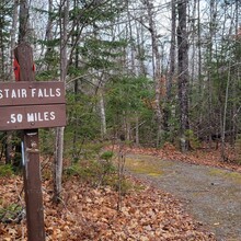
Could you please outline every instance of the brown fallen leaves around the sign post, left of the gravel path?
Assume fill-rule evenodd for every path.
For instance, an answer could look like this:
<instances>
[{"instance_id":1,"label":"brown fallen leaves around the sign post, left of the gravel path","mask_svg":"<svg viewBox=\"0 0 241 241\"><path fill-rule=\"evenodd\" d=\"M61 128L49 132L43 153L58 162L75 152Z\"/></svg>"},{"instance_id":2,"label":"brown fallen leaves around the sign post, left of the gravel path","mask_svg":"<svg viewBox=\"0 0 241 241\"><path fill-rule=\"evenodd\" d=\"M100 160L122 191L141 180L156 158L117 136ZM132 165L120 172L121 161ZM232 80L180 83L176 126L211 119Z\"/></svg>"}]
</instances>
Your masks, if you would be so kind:
<instances>
[{"instance_id":1,"label":"brown fallen leaves around the sign post, left of the gravel path","mask_svg":"<svg viewBox=\"0 0 241 241\"><path fill-rule=\"evenodd\" d=\"M216 240L202 230L202 223L184 213L170 194L131 180L135 186L122 197L111 187L93 188L76 177L64 184L62 203L51 203L51 183L43 183L47 241L71 240ZM20 177L0 179L0 207L20 202ZM117 211L117 204L120 211ZM21 223L1 223L2 241L26 240L25 219Z\"/></svg>"}]
</instances>

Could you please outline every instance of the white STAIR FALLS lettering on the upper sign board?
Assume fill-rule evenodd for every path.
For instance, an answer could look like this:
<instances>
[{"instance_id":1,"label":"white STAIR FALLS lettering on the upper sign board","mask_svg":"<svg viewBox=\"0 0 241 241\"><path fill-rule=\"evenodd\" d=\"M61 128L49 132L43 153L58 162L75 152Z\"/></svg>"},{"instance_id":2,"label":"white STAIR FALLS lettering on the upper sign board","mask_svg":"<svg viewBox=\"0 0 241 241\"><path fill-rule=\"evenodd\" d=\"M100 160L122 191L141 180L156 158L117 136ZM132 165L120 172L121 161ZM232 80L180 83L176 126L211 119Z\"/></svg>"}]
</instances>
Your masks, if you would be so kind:
<instances>
[{"instance_id":1,"label":"white STAIR FALLS lettering on the upper sign board","mask_svg":"<svg viewBox=\"0 0 241 241\"><path fill-rule=\"evenodd\" d=\"M60 88L33 88L27 89L0 89L0 99L25 99L25 97L60 97Z\"/></svg>"}]
</instances>

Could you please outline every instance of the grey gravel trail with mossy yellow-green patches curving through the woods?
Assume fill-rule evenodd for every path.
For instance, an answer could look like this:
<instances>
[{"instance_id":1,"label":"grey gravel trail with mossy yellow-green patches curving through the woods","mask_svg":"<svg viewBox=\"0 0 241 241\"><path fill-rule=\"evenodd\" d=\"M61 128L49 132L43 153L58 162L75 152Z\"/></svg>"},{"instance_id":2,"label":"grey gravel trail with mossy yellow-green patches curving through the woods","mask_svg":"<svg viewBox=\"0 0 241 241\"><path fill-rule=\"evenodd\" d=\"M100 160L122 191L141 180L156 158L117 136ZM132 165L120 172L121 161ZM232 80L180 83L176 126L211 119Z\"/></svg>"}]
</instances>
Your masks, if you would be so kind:
<instances>
[{"instance_id":1,"label":"grey gravel trail with mossy yellow-green patches curving through the woods","mask_svg":"<svg viewBox=\"0 0 241 241\"><path fill-rule=\"evenodd\" d=\"M126 169L179 197L219 241L241 240L241 173L128 154Z\"/></svg>"}]
</instances>

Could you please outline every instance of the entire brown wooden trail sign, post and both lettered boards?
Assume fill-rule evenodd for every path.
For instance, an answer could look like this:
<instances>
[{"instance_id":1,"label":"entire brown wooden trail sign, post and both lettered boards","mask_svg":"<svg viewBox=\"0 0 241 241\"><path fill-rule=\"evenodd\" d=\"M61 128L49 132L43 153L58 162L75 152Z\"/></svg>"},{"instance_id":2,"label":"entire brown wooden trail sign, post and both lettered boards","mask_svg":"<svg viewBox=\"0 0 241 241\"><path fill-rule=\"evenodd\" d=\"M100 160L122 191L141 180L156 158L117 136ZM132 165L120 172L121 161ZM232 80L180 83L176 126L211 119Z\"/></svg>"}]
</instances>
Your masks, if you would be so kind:
<instances>
[{"instance_id":1,"label":"entire brown wooden trail sign, post and both lettered boards","mask_svg":"<svg viewBox=\"0 0 241 241\"><path fill-rule=\"evenodd\" d=\"M45 241L38 128L66 125L62 82L35 82L33 50L15 50L20 82L0 83L0 130L22 129L22 160L28 241Z\"/></svg>"}]
</instances>

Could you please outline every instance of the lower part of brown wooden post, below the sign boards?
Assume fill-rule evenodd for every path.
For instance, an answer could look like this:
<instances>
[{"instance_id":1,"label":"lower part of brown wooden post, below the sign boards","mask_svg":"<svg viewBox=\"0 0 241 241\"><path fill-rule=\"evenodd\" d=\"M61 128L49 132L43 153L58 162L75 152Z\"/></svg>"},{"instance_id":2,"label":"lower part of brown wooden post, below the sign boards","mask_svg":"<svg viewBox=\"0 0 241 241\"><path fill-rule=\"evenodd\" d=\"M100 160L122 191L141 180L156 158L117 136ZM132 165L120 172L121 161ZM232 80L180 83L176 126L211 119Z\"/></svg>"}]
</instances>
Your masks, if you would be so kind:
<instances>
[{"instance_id":1,"label":"lower part of brown wooden post, below the sign boards","mask_svg":"<svg viewBox=\"0 0 241 241\"><path fill-rule=\"evenodd\" d=\"M38 129L23 131L23 177L28 241L45 241Z\"/></svg>"}]
</instances>

